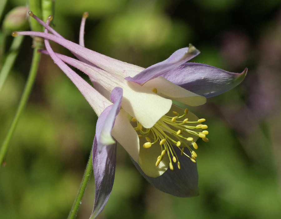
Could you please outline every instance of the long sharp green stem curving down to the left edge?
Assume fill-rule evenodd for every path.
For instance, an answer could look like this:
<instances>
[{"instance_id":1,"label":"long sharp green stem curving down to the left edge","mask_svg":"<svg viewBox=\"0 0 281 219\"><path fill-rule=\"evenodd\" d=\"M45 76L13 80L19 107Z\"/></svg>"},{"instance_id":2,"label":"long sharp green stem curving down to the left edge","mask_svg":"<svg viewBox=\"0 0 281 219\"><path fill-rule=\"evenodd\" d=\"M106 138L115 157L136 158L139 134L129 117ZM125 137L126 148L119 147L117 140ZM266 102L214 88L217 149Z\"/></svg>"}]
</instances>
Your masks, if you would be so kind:
<instances>
[{"instance_id":1,"label":"long sharp green stem curving down to the left edge","mask_svg":"<svg viewBox=\"0 0 281 219\"><path fill-rule=\"evenodd\" d=\"M15 115L13 121L12 121L12 125L10 126L10 129L7 133L7 136L6 136L5 140L3 141L3 144L2 144L1 149L0 149L0 165L3 163L3 160L4 160L4 158L7 154L7 150L8 150L10 140L12 138L12 134L15 131L18 119L19 119L19 117L22 113L22 110L24 109L24 107L27 103L29 94L31 92L31 89L32 89L32 86L33 86L33 83L34 83L34 80L35 80L35 76L36 76L36 73L37 73L37 68L38 68L38 65L39 65L40 57L41 57L41 54L37 52L37 49L40 49L40 48L41 48L41 46L37 46L33 50L31 69L29 71L28 79L27 79L27 82L25 84L25 88L24 88L24 91L22 93L20 103L17 107L16 115Z\"/></svg>"}]
</instances>

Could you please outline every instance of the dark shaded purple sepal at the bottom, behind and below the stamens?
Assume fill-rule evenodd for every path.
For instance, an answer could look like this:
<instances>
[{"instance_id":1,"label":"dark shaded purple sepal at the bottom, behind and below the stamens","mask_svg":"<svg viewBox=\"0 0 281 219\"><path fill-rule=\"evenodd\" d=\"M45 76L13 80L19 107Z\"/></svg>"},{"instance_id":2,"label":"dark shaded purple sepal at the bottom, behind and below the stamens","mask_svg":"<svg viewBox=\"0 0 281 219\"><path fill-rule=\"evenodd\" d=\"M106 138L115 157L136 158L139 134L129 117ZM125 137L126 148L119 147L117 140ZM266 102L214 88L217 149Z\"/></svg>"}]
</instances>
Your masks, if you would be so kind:
<instances>
[{"instance_id":1,"label":"dark shaded purple sepal at the bottom, behind and below the stamens","mask_svg":"<svg viewBox=\"0 0 281 219\"><path fill-rule=\"evenodd\" d=\"M139 164L133 159L133 163L143 177L159 190L178 197L191 197L199 195L197 166L185 155L180 155L180 150L175 148L175 152L180 161L180 169L174 164L174 170L167 169L159 177L152 178L141 170Z\"/></svg>"}]
</instances>

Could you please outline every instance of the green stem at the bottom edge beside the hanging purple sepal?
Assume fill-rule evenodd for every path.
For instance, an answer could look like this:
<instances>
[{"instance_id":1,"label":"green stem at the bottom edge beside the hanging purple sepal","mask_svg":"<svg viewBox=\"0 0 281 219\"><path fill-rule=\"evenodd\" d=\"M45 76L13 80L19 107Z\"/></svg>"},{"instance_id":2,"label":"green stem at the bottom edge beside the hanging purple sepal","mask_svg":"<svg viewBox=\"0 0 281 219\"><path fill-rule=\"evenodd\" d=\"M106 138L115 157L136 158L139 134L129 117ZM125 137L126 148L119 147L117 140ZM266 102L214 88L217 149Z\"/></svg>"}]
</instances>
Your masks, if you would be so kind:
<instances>
[{"instance_id":1,"label":"green stem at the bottom edge beside the hanging purple sepal","mask_svg":"<svg viewBox=\"0 0 281 219\"><path fill-rule=\"evenodd\" d=\"M92 172L93 172L93 165L92 165L92 153L91 153L87 166L86 166L86 169L85 169L85 173L84 173L80 188L79 188L77 196L76 196L76 199L72 205L72 208L69 212L67 219L74 219L76 217L76 214L81 205L81 200L84 196L84 193L85 193L85 190L86 190L86 187L87 187L87 184L88 184L88 181L90 179Z\"/></svg>"}]
</instances>

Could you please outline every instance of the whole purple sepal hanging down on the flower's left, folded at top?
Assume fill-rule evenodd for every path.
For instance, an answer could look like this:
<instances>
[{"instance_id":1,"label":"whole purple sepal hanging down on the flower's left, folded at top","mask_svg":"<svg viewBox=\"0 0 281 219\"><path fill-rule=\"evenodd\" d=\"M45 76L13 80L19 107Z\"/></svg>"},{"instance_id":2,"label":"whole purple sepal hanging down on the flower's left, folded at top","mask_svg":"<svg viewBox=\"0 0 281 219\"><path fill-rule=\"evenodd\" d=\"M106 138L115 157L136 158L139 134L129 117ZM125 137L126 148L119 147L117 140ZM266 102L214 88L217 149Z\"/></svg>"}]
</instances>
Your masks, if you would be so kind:
<instances>
[{"instance_id":1,"label":"whole purple sepal hanging down on the flower's left, folded at top","mask_svg":"<svg viewBox=\"0 0 281 219\"><path fill-rule=\"evenodd\" d=\"M96 123L92 160L95 177L95 201L92 218L95 218L105 207L114 182L116 143L111 137L111 130L120 111L122 95L122 88L116 87L112 90L111 100L114 104L106 107Z\"/></svg>"}]
</instances>

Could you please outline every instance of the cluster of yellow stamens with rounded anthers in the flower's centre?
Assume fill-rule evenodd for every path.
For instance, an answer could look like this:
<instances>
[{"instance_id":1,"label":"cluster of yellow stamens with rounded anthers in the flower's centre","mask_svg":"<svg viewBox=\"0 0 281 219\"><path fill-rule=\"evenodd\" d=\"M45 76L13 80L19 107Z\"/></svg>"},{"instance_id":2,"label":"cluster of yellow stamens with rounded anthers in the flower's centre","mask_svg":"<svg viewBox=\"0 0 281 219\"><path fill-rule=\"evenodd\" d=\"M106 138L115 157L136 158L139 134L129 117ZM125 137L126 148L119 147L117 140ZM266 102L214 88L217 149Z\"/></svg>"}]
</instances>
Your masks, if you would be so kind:
<instances>
[{"instance_id":1,"label":"cluster of yellow stamens with rounded anthers in the flower's centre","mask_svg":"<svg viewBox=\"0 0 281 219\"><path fill-rule=\"evenodd\" d=\"M146 142L143 144L145 149L150 148L153 144L159 143L161 152L156 159L155 166L160 164L166 154L170 160L169 166L171 170L174 169L173 163L177 163L178 169L180 169L180 162L172 145L175 145L181 151L180 155L185 155L192 162L196 163L197 154L190 146L192 145L194 149L198 149L198 145L190 135L200 137L205 142L209 141L206 137L209 132L207 130L202 131L202 129L207 129L208 126L203 124L193 125L194 123L205 122L205 119L189 121L187 118L188 109L185 109L182 115L175 111L173 111L173 114L175 116L165 115L161 117L151 128L143 128L141 123L135 118L131 120L132 122L136 122L136 127L134 128L139 133L139 138L145 137ZM189 150L190 155L184 152L185 148Z\"/></svg>"}]
</instances>

